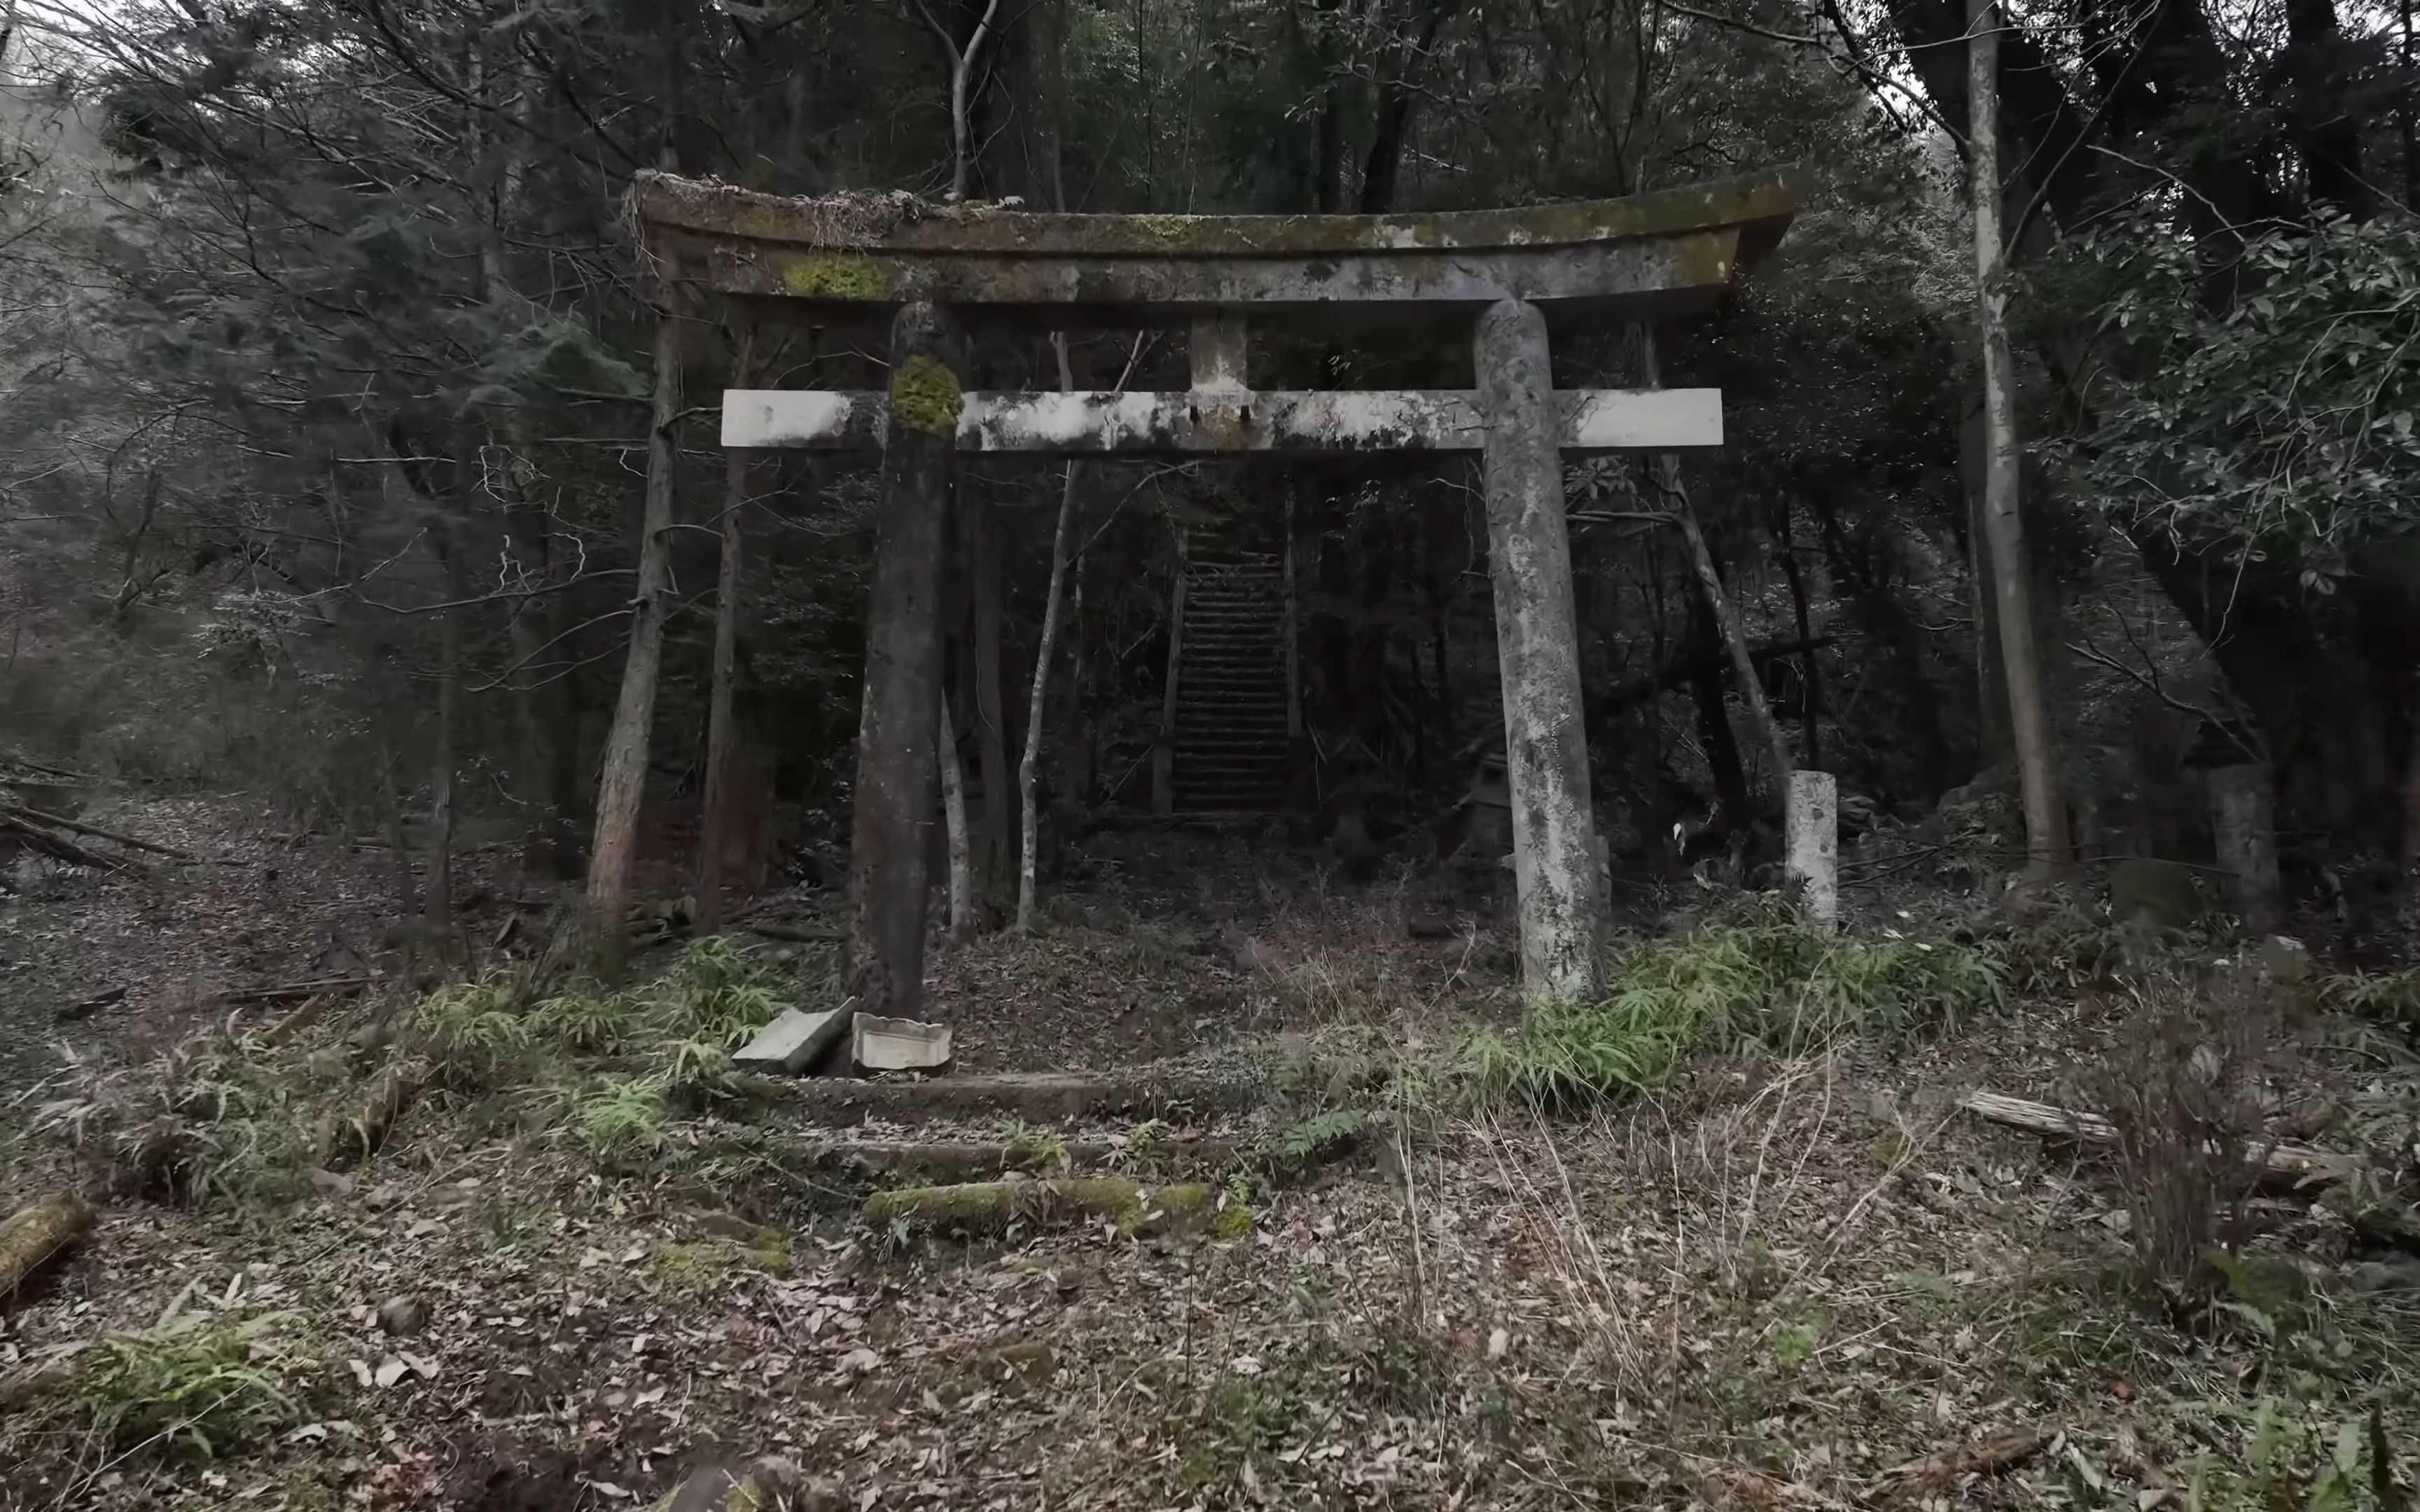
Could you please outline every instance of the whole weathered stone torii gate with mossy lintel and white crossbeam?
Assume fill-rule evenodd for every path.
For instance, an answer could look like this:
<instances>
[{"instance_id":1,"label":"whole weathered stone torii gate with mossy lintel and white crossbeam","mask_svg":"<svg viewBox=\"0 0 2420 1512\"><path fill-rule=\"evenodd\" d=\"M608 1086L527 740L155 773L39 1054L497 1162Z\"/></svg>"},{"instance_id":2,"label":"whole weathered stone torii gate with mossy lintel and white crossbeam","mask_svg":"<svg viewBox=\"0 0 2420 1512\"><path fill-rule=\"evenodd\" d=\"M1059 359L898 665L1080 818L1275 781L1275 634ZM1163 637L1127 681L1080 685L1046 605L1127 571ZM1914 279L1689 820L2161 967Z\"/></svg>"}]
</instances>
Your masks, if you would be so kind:
<instances>
[{"instance_id":1,"label":"whole weathered stone torii gate with mossy lintel and white crossbeam","mask_svg":"<svg viewBox=\"0 0 2420 1512\"><path fill-rule=\"evenodd\" d=\"M915 1006L939 721L941 537L961 452L1476 450L1503 665L1522 980L1588 992L1604 929L1561 452L1723 443L1718 389L1556 389L1549 322L1711 307L1788 227L1788 177L1413 215L1043 215L779 198L641 174L641 242L695 285L813 324L891 322L888 392L733 389L726 448L881 450L852 844L852 987ZM1254 392L1251 329L1454 322L1474 387ZM1191 331L1183 392L966 392L963 324ZM1459 334L1454 336L1459 344Z\"/></svg>"}]
</instances>

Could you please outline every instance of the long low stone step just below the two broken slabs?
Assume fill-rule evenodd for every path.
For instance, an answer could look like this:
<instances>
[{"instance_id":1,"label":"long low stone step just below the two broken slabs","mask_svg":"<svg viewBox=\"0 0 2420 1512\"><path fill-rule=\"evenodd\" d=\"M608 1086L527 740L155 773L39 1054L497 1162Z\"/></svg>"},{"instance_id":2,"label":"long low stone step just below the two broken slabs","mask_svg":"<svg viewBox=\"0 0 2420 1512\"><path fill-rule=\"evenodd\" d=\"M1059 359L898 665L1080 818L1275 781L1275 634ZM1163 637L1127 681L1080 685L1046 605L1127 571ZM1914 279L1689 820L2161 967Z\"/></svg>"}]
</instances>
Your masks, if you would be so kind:
<instances>
[{"instance_id":1,"label":"long low stone step just below the two broken slabs","mask_svg":"<svg viewBox=\"0 0 2420 1512\"><path fill-rule=\"evenodd\" d=\"M932 1123L939 1118L997 1118L1004 1113L1026 1123L1106 1118L1116 1113L1229 1113L1258 1108L1273 1096L1258 1079L1193 1067L1137 1067L1099 1074L1004 1072L915 1081L743 1077L741 1086L794 1110L808 1123L823 1125L849 1125L866 1118Z\"/></svg>"}]
</instances>

